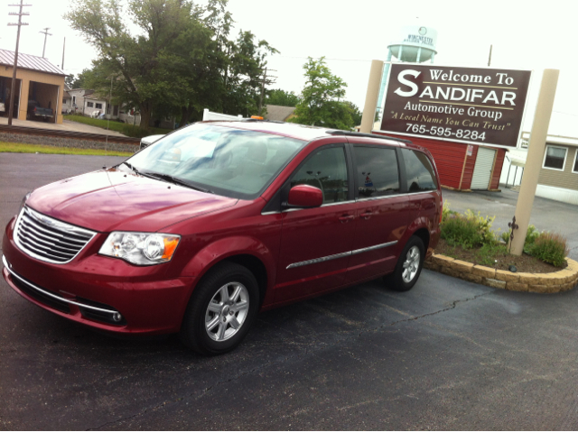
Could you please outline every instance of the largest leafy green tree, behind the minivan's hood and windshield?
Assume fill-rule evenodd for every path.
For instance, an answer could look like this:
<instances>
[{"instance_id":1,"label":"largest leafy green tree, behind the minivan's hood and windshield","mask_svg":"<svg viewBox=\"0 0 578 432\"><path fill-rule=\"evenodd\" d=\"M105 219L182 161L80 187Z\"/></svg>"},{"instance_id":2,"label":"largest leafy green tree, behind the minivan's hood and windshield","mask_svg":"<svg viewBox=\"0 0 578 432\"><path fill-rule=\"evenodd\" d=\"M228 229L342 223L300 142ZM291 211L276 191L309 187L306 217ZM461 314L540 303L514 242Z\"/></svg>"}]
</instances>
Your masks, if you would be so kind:
<instances>
[{"instance_id":1,"label":"largest leafy green tree, behind the minivan's hood and windshield","mask_svg":"<svg viewBox=\"0 0 578 432\"><path fill-rule=\"evenodd\" d=\"M203 108L248 115L255 110L266 56L277 52L251 32L228 39L227 0L73 0L65 18L98 49L87 84L135 107L141 128L155 110L199 119ZM126 9L126 10L125 10ZM139 31L133 35L125 23Z\"/></svg>"}]
</instances>

